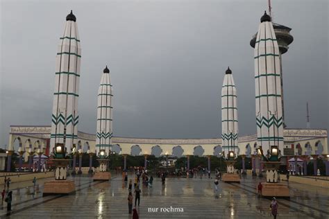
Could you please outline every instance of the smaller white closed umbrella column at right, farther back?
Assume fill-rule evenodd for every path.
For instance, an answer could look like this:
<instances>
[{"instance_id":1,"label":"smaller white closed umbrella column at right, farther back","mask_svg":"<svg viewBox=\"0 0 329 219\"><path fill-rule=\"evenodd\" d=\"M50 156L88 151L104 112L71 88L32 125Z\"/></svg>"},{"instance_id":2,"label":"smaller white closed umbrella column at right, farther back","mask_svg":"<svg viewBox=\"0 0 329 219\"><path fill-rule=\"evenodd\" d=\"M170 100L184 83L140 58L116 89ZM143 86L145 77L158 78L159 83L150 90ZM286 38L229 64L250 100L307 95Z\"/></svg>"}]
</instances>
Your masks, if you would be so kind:
<instances>
[{"instance_id":1,"label":"smaller white closed umbrella column at right, farther back","mask_svg":"<svg viewBox=\"0 0 329 219\"><path fill-rule=\"evenodd\" d=\"M237 89L233 80L230 67L225 72L223 87L221 87L221 139L223 150L228 157L229 152L237 156L238 148L237 127Z\"/></svg>"}]
</instances>

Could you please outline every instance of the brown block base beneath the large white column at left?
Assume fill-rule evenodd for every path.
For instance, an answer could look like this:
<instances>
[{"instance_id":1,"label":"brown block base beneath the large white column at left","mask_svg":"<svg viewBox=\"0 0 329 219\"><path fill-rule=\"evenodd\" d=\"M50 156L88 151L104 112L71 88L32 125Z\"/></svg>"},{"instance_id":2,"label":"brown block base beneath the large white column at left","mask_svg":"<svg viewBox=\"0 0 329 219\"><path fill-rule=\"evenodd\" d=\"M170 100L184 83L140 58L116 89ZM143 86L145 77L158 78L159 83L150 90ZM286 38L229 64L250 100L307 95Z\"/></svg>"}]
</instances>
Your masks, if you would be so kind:
<instances>
[{"instance_id":1,"label":"brown block base beneath the large white column at left","mask_svg":"<svg viewBox=\"0 0 329 219\"><path fill-rule=\"evenodd\" d=\"M45 195L52 194L66 194L74 193L76 191L76 184L73 180L51 180L44 182L44 192Z\"/></svg>"}]
</instances>

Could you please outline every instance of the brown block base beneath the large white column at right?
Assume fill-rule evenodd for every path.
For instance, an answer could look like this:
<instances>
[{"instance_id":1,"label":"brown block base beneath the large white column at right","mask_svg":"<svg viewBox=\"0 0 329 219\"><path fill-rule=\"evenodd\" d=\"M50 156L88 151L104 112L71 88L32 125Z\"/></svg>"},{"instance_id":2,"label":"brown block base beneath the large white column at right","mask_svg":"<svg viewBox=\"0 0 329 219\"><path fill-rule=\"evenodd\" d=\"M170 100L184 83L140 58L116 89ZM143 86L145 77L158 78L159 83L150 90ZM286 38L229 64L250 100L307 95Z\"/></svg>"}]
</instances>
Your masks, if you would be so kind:
<instances>
[{"instance_id":1,"label":"brown block base beneath the large white column at right","mask_svg":"<svg viewBox=\"0 0 329 219\"><path fill-rule=\"evenodd\" d=\"M289 188L286 184L263 182L262 186L262 196L290 197Z\"/></svg>"}]
</instances>

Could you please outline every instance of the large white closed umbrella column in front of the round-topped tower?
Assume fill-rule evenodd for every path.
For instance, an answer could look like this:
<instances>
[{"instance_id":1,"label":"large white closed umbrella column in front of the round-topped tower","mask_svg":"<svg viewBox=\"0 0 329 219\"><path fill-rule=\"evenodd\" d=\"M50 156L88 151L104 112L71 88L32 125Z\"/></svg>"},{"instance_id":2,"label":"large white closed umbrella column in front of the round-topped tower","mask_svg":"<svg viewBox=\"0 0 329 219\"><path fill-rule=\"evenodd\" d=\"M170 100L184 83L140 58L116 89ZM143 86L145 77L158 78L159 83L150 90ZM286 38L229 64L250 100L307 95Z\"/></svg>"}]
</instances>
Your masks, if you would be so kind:
<instances>
[{"instance_id":1,"label":"large white closed umbrella column in front of the round-topped tower","mask_svg":"<svg viewBox=\"0 0 329 219\"><path fill-rule=\"evenodd\" d=\"M264 154L271 146L283 150L280 51L271 17L260 19L255 42L255 100L258 146Z\"/></svg>"}]
</instances>

